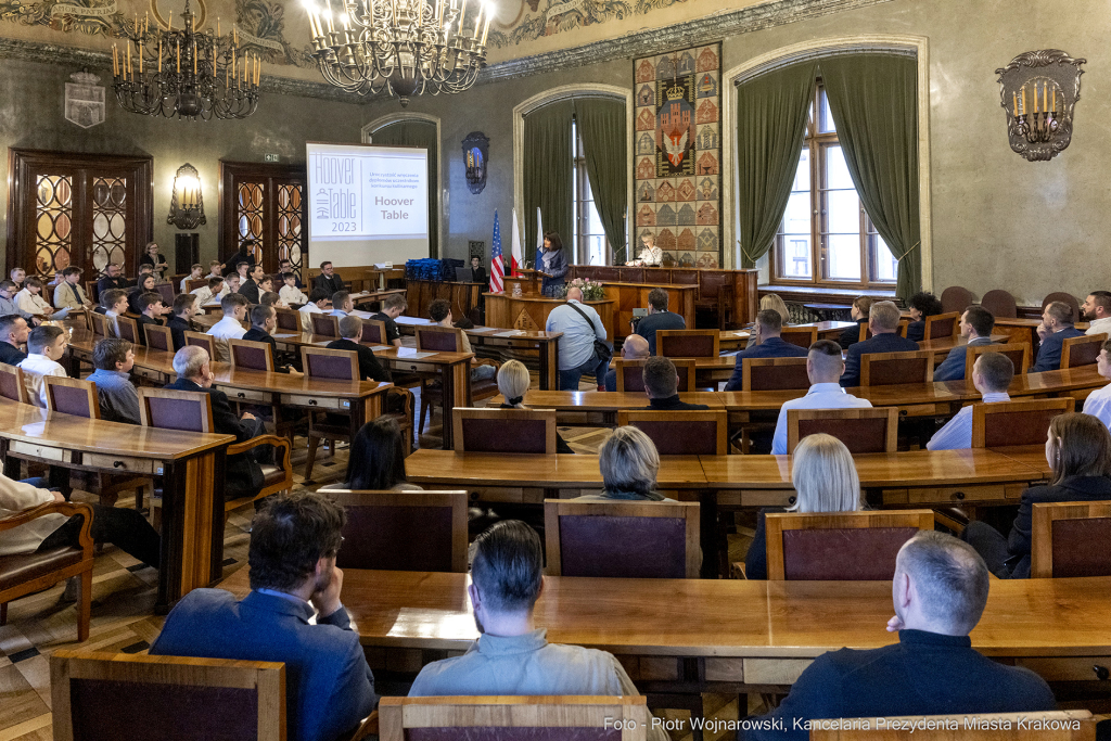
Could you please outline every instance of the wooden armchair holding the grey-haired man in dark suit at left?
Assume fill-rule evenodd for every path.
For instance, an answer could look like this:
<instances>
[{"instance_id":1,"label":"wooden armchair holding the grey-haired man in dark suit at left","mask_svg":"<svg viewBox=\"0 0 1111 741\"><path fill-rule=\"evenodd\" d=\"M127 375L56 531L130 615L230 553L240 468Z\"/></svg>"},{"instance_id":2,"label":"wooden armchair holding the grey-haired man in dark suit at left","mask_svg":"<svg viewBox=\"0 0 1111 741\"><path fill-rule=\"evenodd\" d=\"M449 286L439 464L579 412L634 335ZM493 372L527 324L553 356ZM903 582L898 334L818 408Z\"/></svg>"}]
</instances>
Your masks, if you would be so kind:
<instances>
[{"instance_id":1,"label":"wooden armchair holding the grey-haired man in dark suit at left","mask_svg":"<svg viewBox=\"0 0 1111 741\"><path fill-rule=\"evenodd\" d=\"M139 389L139 419L143 427L187 432L214 432L212 399L201 391L172 389ZM263 499L293 487L293 467L290 444L276 434L260 434L250 440L228 445L228 455L239 455L259 445L273 445L276 464L262 463L262 489L254 497L226 500L223 511L230 512L244 504Z\"/></svg>"}]
</instances>

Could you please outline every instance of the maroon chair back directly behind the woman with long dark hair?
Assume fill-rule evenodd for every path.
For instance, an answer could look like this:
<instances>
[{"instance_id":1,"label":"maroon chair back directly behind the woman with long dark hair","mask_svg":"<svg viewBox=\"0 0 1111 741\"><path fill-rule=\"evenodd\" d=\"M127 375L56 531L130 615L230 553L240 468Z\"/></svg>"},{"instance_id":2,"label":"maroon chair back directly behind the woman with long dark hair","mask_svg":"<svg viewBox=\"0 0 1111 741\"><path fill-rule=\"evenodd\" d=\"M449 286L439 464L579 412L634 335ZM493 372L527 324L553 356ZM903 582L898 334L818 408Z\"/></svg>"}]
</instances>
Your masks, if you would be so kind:
<instances>
[{"instance_id":1,"label":"maroon chair back directly behind the woman with long dark hair","mask_svg":"<svg viewBox=\"0 0 1111 741\"><path fill-rule=\"evenodd\" d=\"M466 491L330 491L347 512L341 569L467 571ZM420 538L413 538L419 532Z\"/></svg>"}]
</instances>

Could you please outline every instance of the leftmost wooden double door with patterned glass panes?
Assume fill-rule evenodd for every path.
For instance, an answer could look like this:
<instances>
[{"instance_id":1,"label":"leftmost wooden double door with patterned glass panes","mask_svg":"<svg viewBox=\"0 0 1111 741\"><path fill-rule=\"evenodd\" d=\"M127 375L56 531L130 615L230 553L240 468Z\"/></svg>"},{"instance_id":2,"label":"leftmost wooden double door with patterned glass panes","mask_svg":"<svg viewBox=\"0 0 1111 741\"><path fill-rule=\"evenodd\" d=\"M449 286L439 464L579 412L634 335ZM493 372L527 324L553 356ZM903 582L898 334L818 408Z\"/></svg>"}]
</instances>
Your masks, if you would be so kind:
<instances>
[{"instance_id":1,"label":"leftmost wooden double door with patterned glass panes","mask_svg":"<svg viewBox=\"0 0 1111 741\"><path fill-rule=\"evenodd\" d=\"M71 264L132 274L153 231L149 157L9 149L7 269L52 279Z\"/></svg>"}]
</instances>

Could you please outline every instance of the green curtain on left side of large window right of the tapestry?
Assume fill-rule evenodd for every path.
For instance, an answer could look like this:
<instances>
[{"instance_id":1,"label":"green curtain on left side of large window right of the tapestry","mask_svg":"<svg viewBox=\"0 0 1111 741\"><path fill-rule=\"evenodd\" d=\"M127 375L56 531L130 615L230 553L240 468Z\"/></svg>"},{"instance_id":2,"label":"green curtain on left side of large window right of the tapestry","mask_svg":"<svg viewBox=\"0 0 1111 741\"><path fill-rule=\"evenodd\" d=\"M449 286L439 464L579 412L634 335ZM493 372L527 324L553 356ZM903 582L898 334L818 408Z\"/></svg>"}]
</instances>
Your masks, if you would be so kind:
<instances>
[{"instance_id":1,"label":"green curtain on left side of large window right of the tapestry","mask_svg":"<svg viewBox=\"0 0 1111 741\"><path fill-rule=\"evenodd\" d=\"M814 62L761 74L737 89L738 241L755 267L783 221L814 97Z\"/></svg>"}]
</instances>

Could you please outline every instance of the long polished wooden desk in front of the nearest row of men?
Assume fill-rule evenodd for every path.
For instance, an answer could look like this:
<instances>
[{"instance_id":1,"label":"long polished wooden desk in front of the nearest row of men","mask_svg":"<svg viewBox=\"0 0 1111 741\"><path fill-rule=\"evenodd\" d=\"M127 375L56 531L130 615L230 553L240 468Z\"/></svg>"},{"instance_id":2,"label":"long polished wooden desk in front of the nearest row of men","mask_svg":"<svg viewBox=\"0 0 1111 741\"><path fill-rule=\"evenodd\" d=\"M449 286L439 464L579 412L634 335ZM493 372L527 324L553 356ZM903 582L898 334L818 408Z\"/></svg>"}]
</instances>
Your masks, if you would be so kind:
<instances>
[{"instance_id":1,"label":"long polished wooden desk in front of the nearest row of men","mask_svg":"<svg viewBox=\"0 0 1111 741\"><path fill-rule=\"evenodd\" d=\"M220 585L242 598L248 578L240 569ZM464 573L346 570L343 604L371 665L408 659L416 670L442 658L434 652L470 648L469 583ZM1105 577L992 581L972 647L1049 680L1094 679L1092 664L1111 655L1109 594ZM791 684L827 651L897 643L892 614L887 581L546 577L534 619L553 643L617 654L634 681L682 679L682 662L661 659L697 658L707 680L743 692Z\"/></svg>"}]
</instances>

